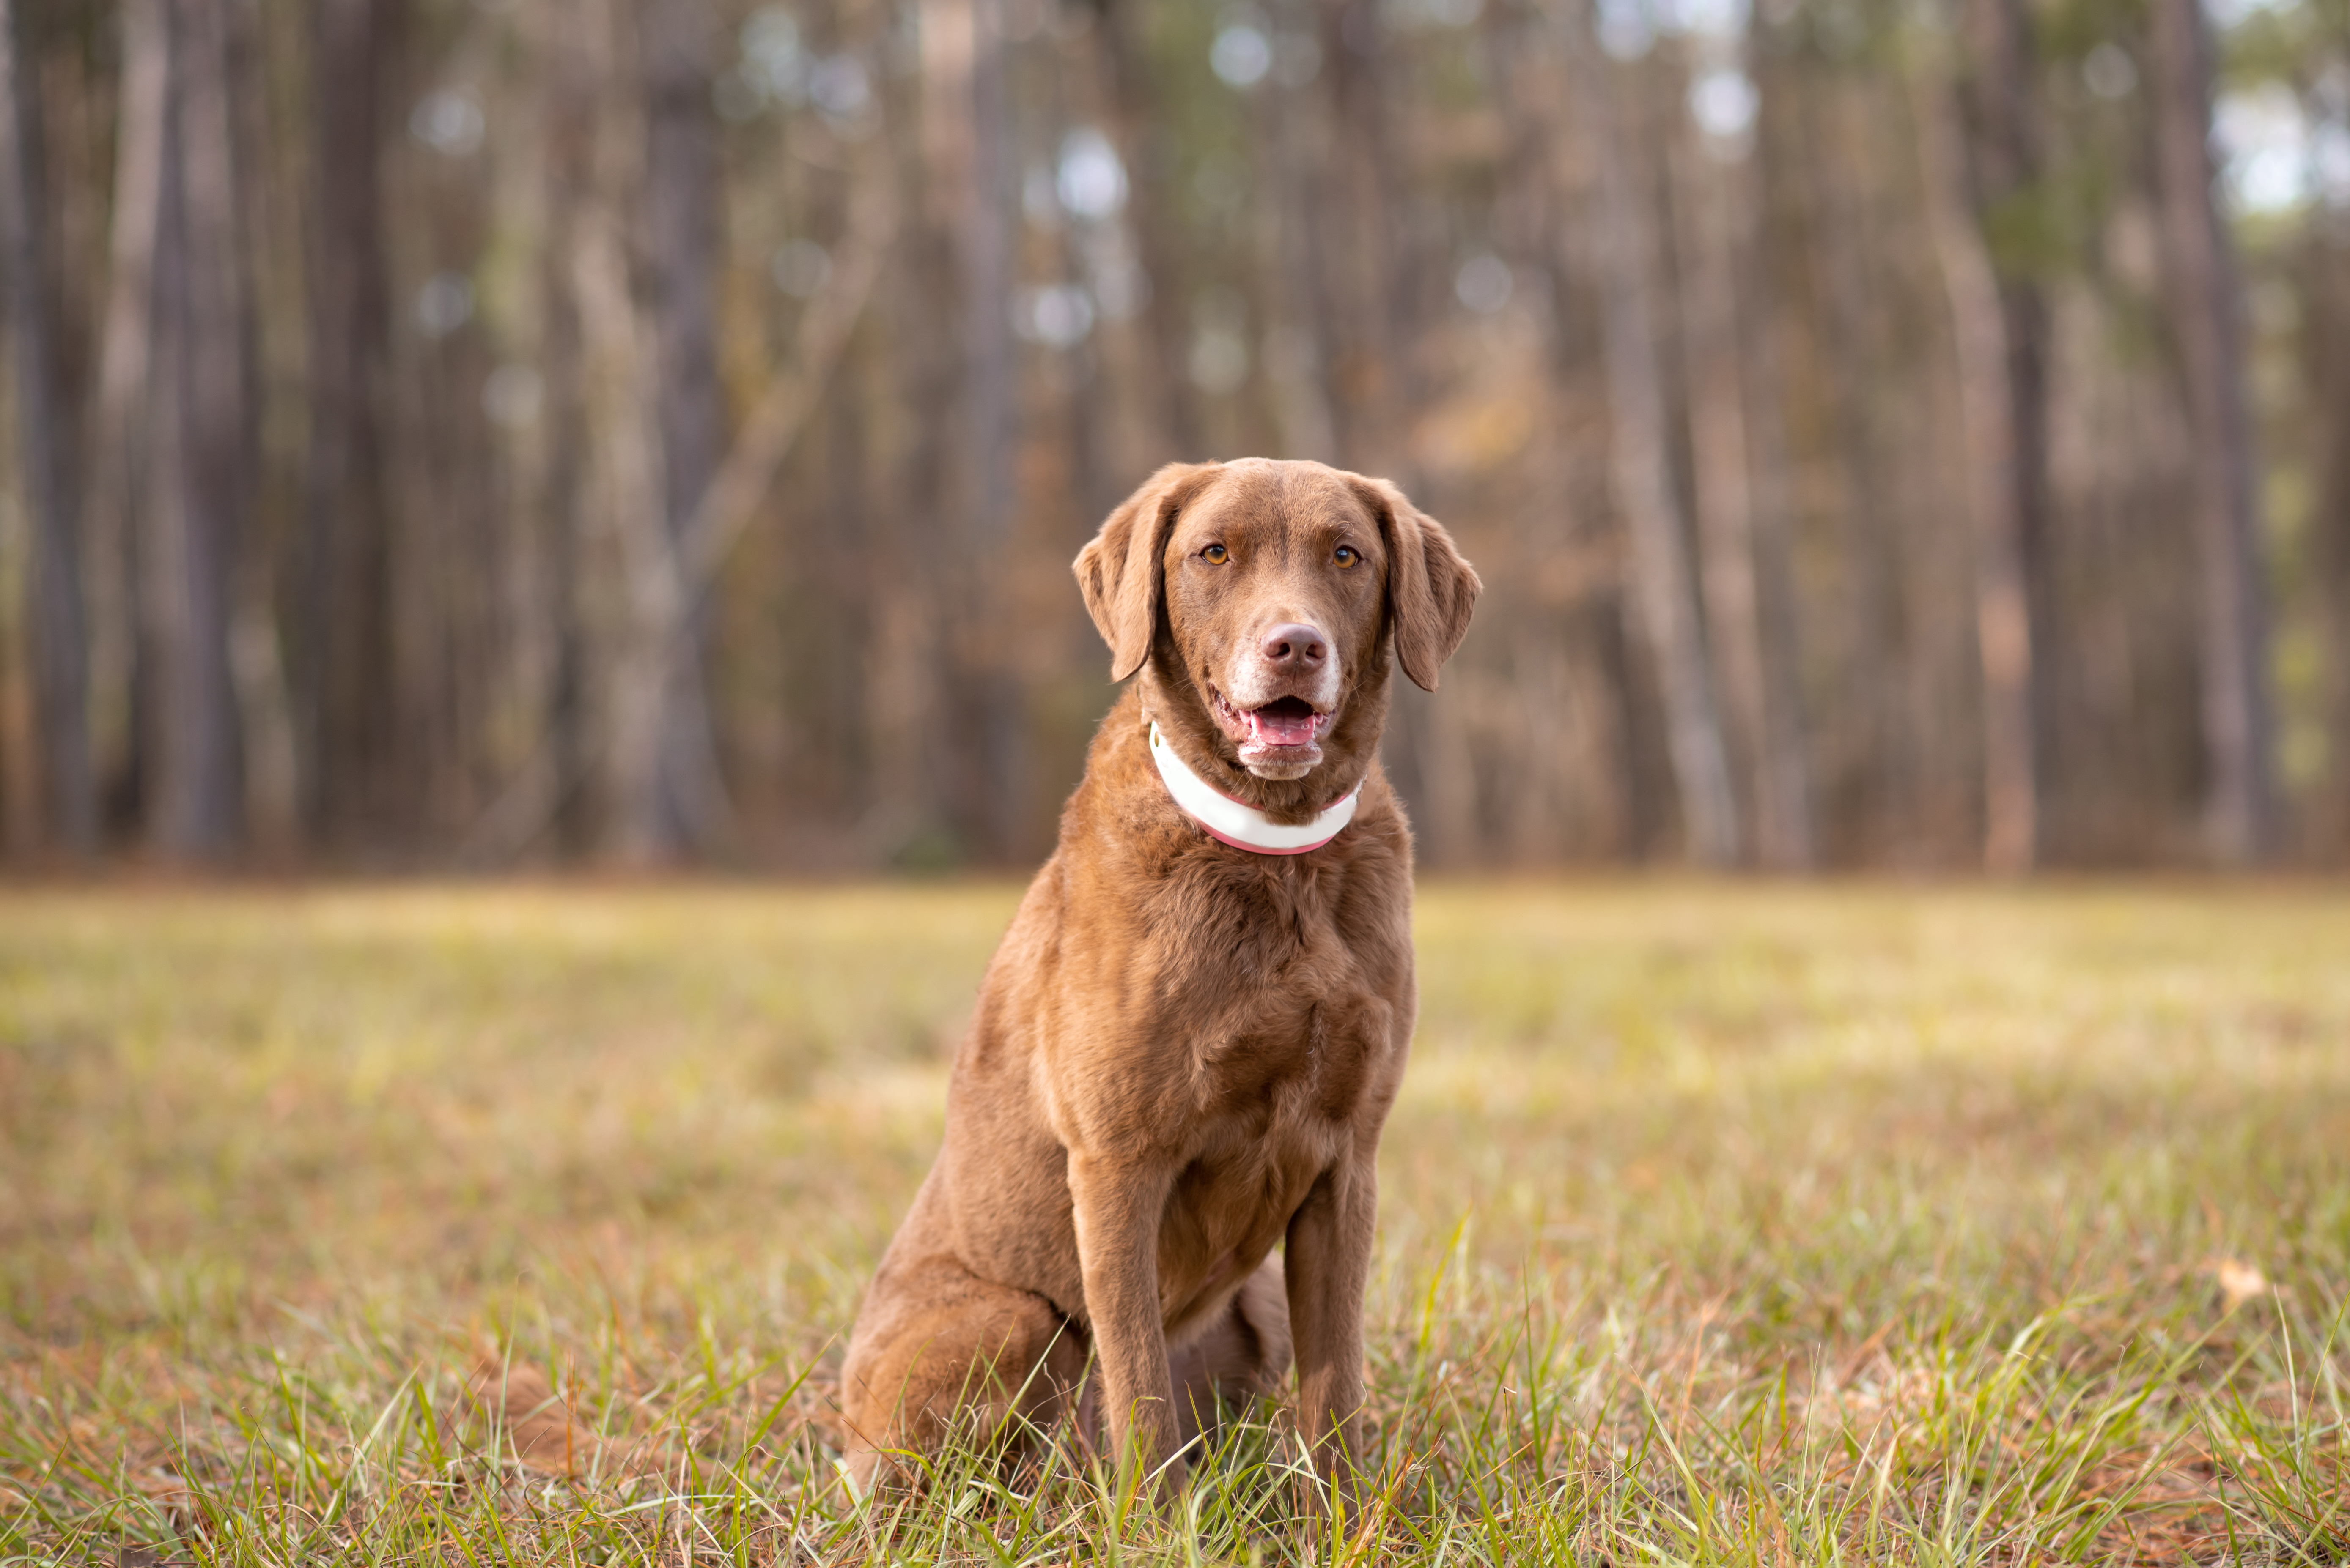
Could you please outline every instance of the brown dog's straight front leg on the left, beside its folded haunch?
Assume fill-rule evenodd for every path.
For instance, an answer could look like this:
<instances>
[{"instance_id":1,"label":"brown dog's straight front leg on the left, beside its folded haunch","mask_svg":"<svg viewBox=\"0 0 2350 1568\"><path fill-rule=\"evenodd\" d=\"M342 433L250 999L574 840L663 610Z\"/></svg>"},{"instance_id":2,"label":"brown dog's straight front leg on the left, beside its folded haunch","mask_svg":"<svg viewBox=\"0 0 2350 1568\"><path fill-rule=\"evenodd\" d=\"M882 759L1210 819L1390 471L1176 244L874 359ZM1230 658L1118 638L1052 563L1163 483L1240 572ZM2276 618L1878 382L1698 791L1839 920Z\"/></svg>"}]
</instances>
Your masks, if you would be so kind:
<instances>
[{"instance_id":1,"label":"brown dog's straight front leg on the left, beside its folded haunch","mask_svg":"<svg viewBox=\"0 0 2350 1568\"><path fill-rule=\"evenodd\" d=\"M1173 1176L1156 1164L1069 1155L1076 1263L1086 1277L1109 1446L1133 1474L1182 1481L1175 1380L1159 1303L1159 1225Z\"/></svg>"}]
</instances>

